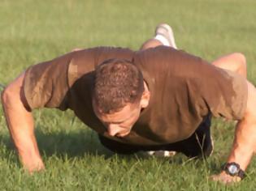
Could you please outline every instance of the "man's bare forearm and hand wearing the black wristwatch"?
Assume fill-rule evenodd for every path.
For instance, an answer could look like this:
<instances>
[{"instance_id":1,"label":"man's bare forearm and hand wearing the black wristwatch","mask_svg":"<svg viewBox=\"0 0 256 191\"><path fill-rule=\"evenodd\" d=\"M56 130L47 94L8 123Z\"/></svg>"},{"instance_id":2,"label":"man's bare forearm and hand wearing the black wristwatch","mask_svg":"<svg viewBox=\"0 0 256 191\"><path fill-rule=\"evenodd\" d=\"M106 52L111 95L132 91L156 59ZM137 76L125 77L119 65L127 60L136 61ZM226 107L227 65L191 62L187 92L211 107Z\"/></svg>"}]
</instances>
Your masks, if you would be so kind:
<instances>
[{"instance_id":1,"label":"man's bare forearm and hand wearing the black wristwatch","mask_svg":"<svg viewBox=\"0 0 256 191\"><path fill-rule=\"evenodd\" d=\"M248 100L245 117L236 125L235 139L228 157L228 163L238 163L244 171L256 151L256 89L251 83L247 84ZM223 183L241 180L239 177L229 176L225 172L213 176L213 179Z\"/></svg>"}]
</instances>

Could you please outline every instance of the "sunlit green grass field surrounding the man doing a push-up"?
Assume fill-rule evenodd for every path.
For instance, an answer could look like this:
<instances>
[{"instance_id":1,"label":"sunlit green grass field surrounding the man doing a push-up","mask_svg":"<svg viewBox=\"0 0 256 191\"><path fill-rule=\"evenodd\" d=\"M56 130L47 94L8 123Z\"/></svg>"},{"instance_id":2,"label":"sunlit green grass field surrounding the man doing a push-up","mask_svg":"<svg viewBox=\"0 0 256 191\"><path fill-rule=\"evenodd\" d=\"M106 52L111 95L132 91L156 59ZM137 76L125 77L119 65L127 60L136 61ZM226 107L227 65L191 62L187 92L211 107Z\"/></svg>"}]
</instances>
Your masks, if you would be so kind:
<instances>
[{"instance_id":1,"label":"sunlit green grass field surrounding the man doing a push-up","mask_svg":"<svg viewBox=\"0 0 256 191\"><path fill-rule=\"evenodd\" d=\"M254 0L87 0L0 2L0 83L80 47L139 49L158 23L170 23L180 49L212 61L245 53L256 83ZM206 160L115 155L72 112L37 110L36 134L46 171L20 167L0 110L0 190L255 190L256 163L238 185L209 180L228 157L234 124L214 121L214 154Z\"/></svg>"}]
</instances>

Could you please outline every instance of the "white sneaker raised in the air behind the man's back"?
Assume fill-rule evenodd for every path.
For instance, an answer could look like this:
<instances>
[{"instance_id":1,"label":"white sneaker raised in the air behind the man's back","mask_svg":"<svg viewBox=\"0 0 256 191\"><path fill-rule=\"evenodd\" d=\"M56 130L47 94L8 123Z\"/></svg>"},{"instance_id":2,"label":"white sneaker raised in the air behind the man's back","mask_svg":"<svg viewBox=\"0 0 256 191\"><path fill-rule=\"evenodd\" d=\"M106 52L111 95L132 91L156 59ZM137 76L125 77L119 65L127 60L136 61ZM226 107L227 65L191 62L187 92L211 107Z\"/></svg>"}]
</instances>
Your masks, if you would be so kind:
<instances>
[{"instance_id":1,"label":"white sneaker raised in the air behind the man's back","mask_svg":"<svg viewBox=\"0 0 256 191\"><path fill-rule=\"evenodd\" d=\"M161 36L163 36L172 48L177 49L172 29L167 23L158 24L155 28L155 36L156 39L158 39L158 37L161 39Z\"/></svg>"}]
</instances>

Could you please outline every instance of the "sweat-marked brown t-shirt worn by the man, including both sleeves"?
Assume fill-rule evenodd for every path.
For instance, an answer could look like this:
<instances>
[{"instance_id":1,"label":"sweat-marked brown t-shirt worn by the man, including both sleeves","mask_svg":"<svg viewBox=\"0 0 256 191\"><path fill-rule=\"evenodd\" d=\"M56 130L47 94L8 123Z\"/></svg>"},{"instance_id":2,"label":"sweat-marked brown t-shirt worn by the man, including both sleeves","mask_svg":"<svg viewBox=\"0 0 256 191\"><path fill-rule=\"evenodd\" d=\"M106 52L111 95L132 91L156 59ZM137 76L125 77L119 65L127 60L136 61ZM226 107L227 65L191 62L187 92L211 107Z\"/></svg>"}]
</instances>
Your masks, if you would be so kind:
<instances>
[{"instance_id":1,"label":"sweat-marked brown t-shirt worn by the man, including both sleeves","mask_svg":"<svg viewBox=\"0 0 256 191\"><path fill-rule=\"evenodd\" d=\"M134 62L150 89L149 106L124 138L108 136L92 107L95 67L111 58ZM30 108L70 108L99 134L137 145L189 138L209 112L240 120L247 103L243 77L166 46L137 52L99 47L67 53L28 68L24 92Z\"/></svg>"}]
</instances>

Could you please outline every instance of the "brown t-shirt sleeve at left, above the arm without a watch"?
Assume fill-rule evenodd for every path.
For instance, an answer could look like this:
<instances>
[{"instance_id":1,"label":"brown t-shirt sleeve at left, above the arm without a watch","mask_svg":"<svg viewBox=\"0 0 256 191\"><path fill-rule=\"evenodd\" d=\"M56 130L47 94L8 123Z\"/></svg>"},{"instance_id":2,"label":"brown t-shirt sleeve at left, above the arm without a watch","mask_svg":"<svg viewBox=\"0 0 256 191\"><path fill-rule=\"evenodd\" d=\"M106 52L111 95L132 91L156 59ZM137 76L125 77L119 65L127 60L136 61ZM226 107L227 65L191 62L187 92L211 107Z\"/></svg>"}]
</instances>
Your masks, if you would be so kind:
<instances>
[{"instance_id":1,"label":"brown t-shirt sleeve at left, above the arm without a watch","mask_svg":"<svg viewBox=\"0 0 256 191\"><path fill-rule=\"evenodd\" d=\"M72 53L26 70L24 95L30 108L67 109L67 70Z\"/></svg>"}]
</instances>

